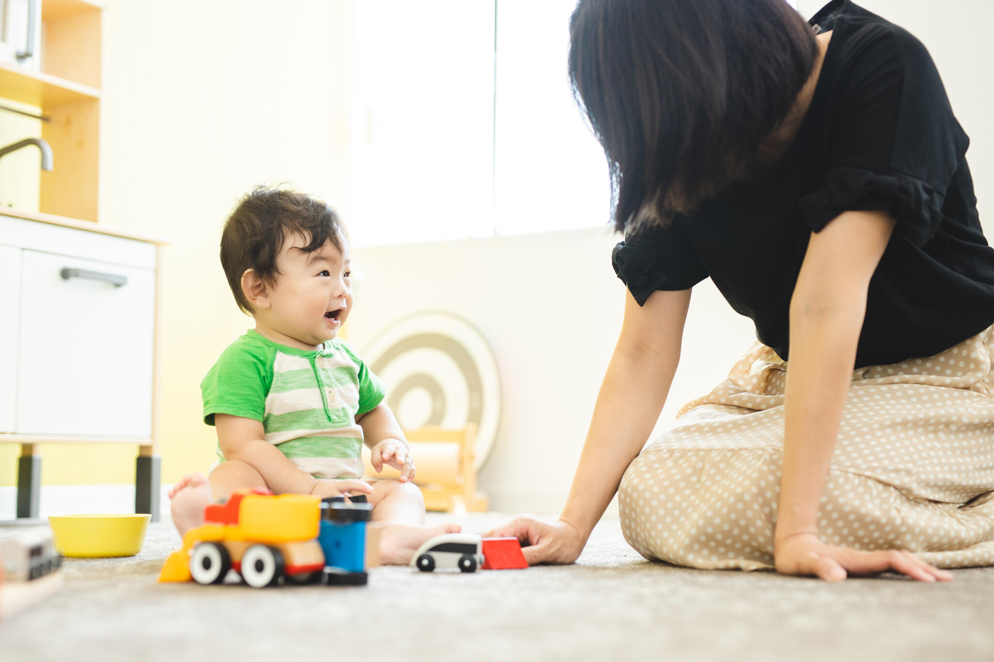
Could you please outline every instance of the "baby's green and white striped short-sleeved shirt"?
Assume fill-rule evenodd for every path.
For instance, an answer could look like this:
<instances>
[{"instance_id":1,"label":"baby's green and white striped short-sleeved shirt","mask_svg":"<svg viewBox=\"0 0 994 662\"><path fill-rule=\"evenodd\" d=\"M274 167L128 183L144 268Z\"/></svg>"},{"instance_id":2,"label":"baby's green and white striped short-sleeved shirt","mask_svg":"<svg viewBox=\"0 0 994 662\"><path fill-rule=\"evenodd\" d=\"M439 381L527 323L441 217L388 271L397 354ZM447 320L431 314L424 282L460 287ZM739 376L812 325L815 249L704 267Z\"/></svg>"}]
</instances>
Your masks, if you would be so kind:
<instances>
[{"instance_id":1,"label":"baby's green and white striped short-sleeved shirt","mask_svg":"<svg viewBox=\"0 0 994 662\"><path fill-rule=\"evenodd\" d=\"M265 441L315 477L363 476L356 417L379 405L384 389L344 340L307 351L248 331L222 352L200 388L208 425L215 414L253 419ZM218 456L224 462L220 444Z\"/></svg>"}]
</instances>

